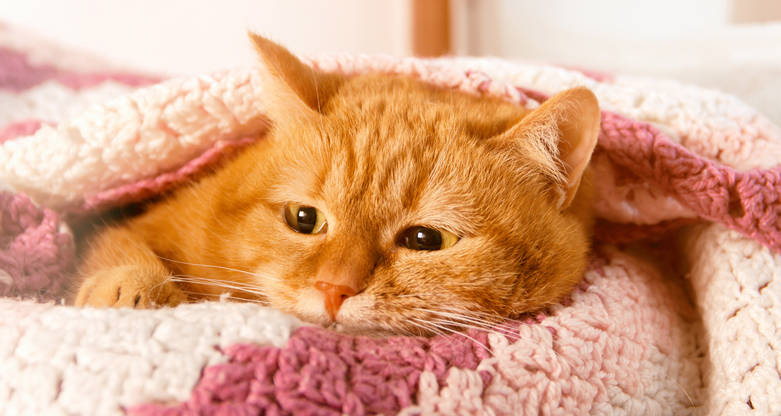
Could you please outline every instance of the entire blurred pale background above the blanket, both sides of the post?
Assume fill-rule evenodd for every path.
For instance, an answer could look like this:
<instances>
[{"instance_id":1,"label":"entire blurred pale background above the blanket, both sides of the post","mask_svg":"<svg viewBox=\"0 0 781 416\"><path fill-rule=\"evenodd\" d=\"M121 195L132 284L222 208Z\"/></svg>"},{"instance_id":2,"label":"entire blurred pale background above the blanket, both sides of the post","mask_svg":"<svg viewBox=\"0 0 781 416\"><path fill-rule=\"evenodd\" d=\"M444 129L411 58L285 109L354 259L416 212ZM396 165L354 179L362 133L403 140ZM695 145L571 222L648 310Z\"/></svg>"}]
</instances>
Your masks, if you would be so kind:
<instances>
[{"instance_id":1,"label":"entire blurred pale background above the blanket, both sides of the post","mask_svg":"<svg viewBox=\"0 0 781 416\"><path fill-rule=\"evenodd\" d=\"M169 75L251 65L248 29L302 54L391 55L445 30L457 55L667 76L781 123L779 0L0 0L0 20Z\"/></svg>"}]
</instances>

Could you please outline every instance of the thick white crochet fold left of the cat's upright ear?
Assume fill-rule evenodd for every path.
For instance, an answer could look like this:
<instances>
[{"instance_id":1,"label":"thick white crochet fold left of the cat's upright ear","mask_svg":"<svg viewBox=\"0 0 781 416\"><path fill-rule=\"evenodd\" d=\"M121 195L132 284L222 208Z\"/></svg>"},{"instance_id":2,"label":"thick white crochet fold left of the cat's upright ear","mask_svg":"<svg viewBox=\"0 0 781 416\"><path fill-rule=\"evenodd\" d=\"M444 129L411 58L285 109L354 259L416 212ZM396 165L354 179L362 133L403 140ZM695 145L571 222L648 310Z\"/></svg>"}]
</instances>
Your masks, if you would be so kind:
<instances>
[{"instance_id":1,"label":"thick white crochet fold left of the cat's upright ear","mask_svg":"<svg viewBox=\"0 0 781 416\"><path fill-rule=\"evenodd\" d=\"M0 178L37 204L73 206L84 194L184 165L218 140L258 134L266 125L260 94L246 69L144 88L6 141Z\"/></svg>"}]
</instances>

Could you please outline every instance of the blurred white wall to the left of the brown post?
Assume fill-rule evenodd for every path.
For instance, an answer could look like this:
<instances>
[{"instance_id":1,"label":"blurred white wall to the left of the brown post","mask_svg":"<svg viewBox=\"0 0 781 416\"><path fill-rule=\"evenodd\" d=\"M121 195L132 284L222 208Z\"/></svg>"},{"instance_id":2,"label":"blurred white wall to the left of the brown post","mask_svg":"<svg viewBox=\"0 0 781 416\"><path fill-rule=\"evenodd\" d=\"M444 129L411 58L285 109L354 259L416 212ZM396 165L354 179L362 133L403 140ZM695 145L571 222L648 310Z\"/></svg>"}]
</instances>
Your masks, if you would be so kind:
<instances>
[{"instance_id":1,"label":"blurred white wall to the left of the brown post","mask_svg":"<svg viewBox=\"0 0 781 416\"><path fill-rule=\"evenodd\" d=\"M406 0L0 0L0 20L176 75L250 65L247 30L302 54L411 50Z\"/></svg>"}]
</instances>

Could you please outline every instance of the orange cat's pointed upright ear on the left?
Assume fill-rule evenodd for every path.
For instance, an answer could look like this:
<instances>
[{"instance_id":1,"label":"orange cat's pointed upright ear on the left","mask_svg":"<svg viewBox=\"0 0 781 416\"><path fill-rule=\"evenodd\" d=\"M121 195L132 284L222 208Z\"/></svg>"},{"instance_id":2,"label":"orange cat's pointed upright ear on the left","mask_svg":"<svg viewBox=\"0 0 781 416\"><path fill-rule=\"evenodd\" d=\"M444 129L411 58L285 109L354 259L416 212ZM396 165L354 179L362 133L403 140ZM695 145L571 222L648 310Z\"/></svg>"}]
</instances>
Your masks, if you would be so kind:
<instances>
[{"instance_id":1,"label":"orange cat's pointed upright ear on the left","mask_svg":"<svg viewBox=\"0 0 781 416\"><path fill-rule=\"evenodd\" d=\"M318 119L344 78L317 72L265 37L253 33L249 37L259 55L263 103L269 118L277 123Z\"/></svg>"}]
</instances>

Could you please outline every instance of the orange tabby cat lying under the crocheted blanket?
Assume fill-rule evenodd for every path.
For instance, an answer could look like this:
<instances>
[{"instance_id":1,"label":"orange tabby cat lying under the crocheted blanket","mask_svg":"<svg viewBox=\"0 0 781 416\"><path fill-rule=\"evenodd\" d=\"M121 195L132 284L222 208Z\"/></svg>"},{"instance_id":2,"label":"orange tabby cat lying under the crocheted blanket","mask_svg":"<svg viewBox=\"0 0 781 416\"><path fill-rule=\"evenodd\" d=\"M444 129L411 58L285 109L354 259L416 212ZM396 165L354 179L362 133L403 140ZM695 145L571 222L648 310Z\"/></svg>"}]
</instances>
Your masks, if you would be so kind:
<instances>
[{"instance_id":1,"label":"orange tabby cat lying under the crocheted blanket","mask_svg":"<svg viewBox=\"0 0 781 416\"><path fill-rule=\"evenodd\" d=\"M580 279L590 91L529 112L404 77L317 73L251 38L268 137L104 229L77 305L230 292L349 332L431 334L544 307Z\"/></svg>"}]
</instances>

